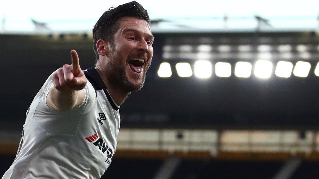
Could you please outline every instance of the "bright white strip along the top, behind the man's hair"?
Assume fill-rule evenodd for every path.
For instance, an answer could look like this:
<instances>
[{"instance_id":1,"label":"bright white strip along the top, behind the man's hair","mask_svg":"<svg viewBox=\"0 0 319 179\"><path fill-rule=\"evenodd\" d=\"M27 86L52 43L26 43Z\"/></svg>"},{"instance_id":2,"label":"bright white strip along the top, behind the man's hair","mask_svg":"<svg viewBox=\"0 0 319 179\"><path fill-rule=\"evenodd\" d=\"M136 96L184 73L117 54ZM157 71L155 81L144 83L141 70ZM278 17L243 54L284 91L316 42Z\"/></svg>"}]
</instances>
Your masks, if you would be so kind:
<instances>
[{"instance_id":1,"label":"bright white strip along the top, behind the man's hair","mask_svg":"<svg viewBox=\"0 0 319 179\"><path fill-rule=\"evenodd\" d=\"M111 6L129 1L78 3L57 0L4 1L0 33L90 32ZM319 1L138 1L148 10L153 32L294 31L317 29ZM17 6L19 4L19 6Z\"/></svg>"}]
</instances>

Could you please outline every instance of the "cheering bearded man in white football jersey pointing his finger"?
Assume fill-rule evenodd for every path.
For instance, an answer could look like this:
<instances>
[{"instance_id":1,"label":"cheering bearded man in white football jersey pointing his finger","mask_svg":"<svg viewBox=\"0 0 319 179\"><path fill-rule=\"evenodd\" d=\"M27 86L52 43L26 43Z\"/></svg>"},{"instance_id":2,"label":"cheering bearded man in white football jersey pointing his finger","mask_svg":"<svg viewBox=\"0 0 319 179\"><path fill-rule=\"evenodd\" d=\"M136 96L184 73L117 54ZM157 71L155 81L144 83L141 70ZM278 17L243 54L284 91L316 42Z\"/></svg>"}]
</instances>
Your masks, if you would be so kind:
<instances>
[{"instance_id":1,"label":"cheering bearded man in white football jersey pointing his finger","mask_svg":"<svg viewBox=\"0 0 319 179\"><path fill-rule=\"evenodd\" d=\"M137 2L110 8L93 28L96 66L78 54L44 83L27 111L8 178L100 178L120 127L118 108L143 87L153 55L147 11Z\"/></svg>"}]
</instances>

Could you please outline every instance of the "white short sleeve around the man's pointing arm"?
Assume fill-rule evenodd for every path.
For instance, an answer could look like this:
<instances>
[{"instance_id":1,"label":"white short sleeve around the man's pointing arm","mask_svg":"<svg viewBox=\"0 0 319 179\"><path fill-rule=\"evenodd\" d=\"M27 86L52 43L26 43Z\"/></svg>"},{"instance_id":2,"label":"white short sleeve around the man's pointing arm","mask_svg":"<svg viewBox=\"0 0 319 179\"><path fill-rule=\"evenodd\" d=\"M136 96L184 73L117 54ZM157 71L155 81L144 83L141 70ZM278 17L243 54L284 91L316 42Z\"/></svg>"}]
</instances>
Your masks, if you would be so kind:
<instances>
[{"instance_id":1,"label":"white short sleeve around the man's pointing arm","mask_svg":"<svg viewBox=\"0 0 319 179\"><path fill-rule=\"evenodd\" d=\"M52 75L44 83L30 108L33 110L32 120L49 134L74 135L79 122L85 113L89 112L96 104L95 90L88 81L84 90L84 101L69 111L56 111L46 103L46 97L53 88Z\"/></svg>"}]
</instances>

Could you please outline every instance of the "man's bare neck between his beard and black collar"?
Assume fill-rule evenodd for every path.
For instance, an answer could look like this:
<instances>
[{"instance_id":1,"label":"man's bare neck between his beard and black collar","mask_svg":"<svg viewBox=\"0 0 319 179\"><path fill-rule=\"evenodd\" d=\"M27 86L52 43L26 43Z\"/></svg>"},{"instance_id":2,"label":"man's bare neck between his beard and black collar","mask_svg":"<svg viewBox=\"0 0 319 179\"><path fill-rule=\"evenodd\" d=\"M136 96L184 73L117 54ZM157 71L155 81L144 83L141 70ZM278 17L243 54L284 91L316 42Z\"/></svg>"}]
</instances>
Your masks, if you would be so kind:
<instances>
[{"instance_id":1,"label":"man's bare neck between his beard and black collar","mask_svg":"<svg viewBox=\"0 0 319 179\"><path fill-rule=\"evenodd\" d=\"M117 105L122 105L124 100L129 96L130 92L124 92L121 88L119 88L116 85L113 85L108 81L108 78L106 75L98 68L98 66L95 67L95 69L100 74L106 88L108 89L108 92L112 99L115 101Z\"/></svg>"}]
</instances>

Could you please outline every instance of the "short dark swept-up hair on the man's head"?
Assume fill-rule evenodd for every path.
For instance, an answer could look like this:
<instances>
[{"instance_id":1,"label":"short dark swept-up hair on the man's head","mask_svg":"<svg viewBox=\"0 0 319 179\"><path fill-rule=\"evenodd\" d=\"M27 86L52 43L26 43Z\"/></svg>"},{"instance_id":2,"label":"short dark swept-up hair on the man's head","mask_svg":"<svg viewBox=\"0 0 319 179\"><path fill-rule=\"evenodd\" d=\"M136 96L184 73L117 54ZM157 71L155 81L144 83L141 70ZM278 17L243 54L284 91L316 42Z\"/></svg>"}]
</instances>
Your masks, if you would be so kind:
<instances>
[{"instance_id":1,"label":"short dark swept-up hair on the man's head","mask_svg":"<svg viewBox=\"0 0 319 179\"><path fill-rule=\"evenodd\" d=\"M108 41L111 45L114 45L114 34L119 28L117 22L122 17L139 18L145 20L147 23L151 22L147 11L136 1L122 4L117 7L111 7L108 11L105 11L93 27L93 49L96 60L99 59L96 42L99 39L103 39Z\"/></svg>"}]
</instances>

